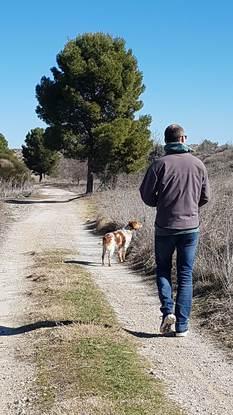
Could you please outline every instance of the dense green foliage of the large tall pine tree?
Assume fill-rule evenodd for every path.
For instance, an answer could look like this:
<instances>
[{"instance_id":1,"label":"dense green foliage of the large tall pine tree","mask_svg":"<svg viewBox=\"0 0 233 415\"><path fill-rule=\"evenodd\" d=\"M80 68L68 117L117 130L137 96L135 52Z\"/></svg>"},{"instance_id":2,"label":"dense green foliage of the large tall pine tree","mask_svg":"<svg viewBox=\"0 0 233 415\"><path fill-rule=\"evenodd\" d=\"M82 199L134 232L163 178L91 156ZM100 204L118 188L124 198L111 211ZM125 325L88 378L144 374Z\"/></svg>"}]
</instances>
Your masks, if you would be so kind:
<instances>
[{"instance_id":1,"label":"dense green foliage of the large tall pine tree","mask_svg":"<svg viewBox=\"0 0 233 415\"><path fill-rule=\"evenodd\" d=\"M142 73L123 39L103 33L69 41L57 55L53 80L36 87L37 114L49 127L53 150L88 160L88 172L136 171L151 147L149 116L135 120L143 103Z\"/></svg>"}]
</instances>

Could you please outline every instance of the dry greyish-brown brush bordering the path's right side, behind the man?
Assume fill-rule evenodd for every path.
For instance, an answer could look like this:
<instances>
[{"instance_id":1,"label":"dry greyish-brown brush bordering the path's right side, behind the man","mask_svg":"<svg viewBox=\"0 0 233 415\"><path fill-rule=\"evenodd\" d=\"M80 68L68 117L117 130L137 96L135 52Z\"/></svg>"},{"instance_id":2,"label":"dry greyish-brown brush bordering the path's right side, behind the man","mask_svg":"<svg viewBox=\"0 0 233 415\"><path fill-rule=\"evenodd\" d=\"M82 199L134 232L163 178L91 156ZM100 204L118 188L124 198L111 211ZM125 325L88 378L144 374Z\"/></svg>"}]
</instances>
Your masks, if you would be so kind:
<instances>
[{"instance_id":1,"label":"dry greyish-brown brush bordering the path's right side, behind the man","mask_svg":"<svg viewBox=\"0 0 233 415\"><path fill-rule=\"evenodd\" d=\"M197 154L209 171L212 198L201 209L201 234L194 270L194 311L202 325L211 329L228 347L233 346L233 149ZM95 195L97 229L106 231L129 219L143 222L128 259L134 268L154 274L154 209L140 199L142 176L119 181L115 190Z\"/></svg>"}]
</instances>

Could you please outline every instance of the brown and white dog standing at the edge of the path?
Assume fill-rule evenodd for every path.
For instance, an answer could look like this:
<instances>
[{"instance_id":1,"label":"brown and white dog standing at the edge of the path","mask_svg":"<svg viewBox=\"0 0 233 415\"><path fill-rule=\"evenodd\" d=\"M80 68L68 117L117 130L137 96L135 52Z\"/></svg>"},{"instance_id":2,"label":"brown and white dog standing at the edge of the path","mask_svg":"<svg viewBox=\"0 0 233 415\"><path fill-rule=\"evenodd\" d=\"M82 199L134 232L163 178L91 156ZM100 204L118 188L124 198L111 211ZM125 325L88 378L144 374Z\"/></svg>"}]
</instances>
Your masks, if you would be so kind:
<instances>
[{"instance_id":1,"label":"brown and white dog standing at the edge of the path","mask_svg":"<svg viewBox=\"0 0 233 415\"><path fill-rule=\"evenodd\" d=\"M102 265L104 265L104 257L108 254L108 266L111 267L111 257L117 249L118 258L120 262L125 261L126 251L131 242L133 231L136 231L142 227L140 222L132 220L128 225L115 232L106 233L103 236L103 253L102 253Z\"/></svg>"}]
</instances>

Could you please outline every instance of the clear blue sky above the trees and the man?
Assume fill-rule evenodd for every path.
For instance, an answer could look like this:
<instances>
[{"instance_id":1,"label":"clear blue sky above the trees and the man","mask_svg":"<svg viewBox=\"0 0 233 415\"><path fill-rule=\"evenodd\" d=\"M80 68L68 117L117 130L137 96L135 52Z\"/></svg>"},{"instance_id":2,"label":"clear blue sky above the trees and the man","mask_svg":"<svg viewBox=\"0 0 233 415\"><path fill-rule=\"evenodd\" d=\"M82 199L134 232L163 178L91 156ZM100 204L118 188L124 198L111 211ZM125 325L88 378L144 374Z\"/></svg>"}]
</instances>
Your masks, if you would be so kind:
<instances>
[{"instance_id":1,"label":"clear blue sky above the trees and the man","mask_svg":"<svg viewBox=\"0 0 233 415\"><path fill-rule=\"evenodd\" d=\"M162 137L176 122L191 143L233 142L232 1L8 0L0 13L0 132L11 148L45 126L35 114L35 86L84 32L123 37L133 50L153 132Z\"/></svg>"}]
</instances>

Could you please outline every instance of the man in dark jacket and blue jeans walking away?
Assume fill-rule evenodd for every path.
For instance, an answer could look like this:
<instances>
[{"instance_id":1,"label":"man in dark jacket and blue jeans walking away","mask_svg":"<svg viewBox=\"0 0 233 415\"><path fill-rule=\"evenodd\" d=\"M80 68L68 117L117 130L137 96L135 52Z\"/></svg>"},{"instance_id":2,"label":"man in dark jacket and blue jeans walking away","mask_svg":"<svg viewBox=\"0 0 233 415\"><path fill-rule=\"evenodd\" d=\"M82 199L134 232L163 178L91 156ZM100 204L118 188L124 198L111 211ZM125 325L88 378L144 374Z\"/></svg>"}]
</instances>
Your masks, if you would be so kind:
<instances>
[{"instance_id":1,"label":"man in dark jacket and blue jeans walking away","mask_svg":"<svg viewBox=\"0 0 233 415\"><path fill-rule=\"evenodd\" d=\"M204 164L185 144L184 129L165 130L165 155L149 167L140 187L142 200L157 208L155 220L156 274L161 312L160 332L188 334L192 307L192 270L199 237L199 208L208 202L209 182ZM177 295L174 309L172 256L177 253Z\"/></svg>"}]
</instances>

